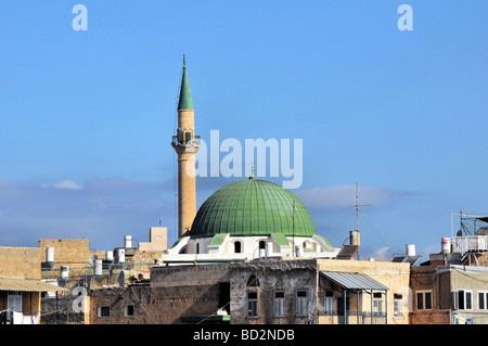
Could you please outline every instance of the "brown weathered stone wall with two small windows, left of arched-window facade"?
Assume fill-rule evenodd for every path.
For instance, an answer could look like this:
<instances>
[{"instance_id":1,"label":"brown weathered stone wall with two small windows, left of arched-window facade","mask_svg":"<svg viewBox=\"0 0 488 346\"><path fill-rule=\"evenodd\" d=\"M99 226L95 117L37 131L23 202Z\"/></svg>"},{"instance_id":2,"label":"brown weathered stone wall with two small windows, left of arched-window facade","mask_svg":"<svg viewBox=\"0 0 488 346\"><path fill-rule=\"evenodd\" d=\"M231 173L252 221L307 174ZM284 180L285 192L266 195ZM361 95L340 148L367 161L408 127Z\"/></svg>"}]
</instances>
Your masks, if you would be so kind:
<instances>
[{"instance_id":1,"label":"brown weathered stone wall with two small windows, left of arched-window facade","mask_svg":"<svg viewBox=\"0 0 488 346\"><path fill-rule=\"evenodd\" d=\"M220 307L229 310L229 299L228 264L153 267L149 285L91 291L90 323L196 323ZM110 316L99 317L101 307L110 307Z\"/></svg>"}]
</instances>

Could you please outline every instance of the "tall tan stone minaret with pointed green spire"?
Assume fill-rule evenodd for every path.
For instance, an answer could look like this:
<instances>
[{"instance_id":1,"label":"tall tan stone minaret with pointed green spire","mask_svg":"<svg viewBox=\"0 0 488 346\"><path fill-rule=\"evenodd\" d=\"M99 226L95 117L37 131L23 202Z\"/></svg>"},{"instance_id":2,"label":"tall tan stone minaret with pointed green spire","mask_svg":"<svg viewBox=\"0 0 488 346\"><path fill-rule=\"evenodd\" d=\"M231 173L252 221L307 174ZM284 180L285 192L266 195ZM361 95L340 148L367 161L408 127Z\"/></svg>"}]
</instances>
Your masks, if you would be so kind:
<instances>
[{"instance_id":1,"label":"tall tan stone minaret with pointed green spire","mask_svg":"<svg viewBox=\"0 0 488 346\"><path fill-rule=\"evenodd\" d=\"M195 136L195 123L187 62L183 55L178 103L178 129L171 145L178 154L178 238L189 235L196 215L195 154L200 148L200 136Z\"/></svg>"}]
</instances>

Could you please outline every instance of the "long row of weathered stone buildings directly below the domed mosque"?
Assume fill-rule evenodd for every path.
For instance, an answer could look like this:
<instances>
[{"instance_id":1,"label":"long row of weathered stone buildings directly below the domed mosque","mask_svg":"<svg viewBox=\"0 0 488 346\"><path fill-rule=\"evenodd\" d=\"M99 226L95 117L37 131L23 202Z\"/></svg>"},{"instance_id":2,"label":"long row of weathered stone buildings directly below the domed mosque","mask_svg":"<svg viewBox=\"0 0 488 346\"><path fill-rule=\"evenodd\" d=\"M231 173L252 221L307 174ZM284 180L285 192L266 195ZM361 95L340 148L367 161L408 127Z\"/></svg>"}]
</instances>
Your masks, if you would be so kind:
<instances>
[{"instance_id":1,"label":"long row of weathered stone buildings directly below the domed mosque","mask_svg":"<svg viewBox=\"0 0 488 346\"><path fill-rule=\"evenodd\" d=\"M154 266L149 281L91 291L90 323L408 324L409 275L337 259Z\"/></svg>"}]
</instances>

